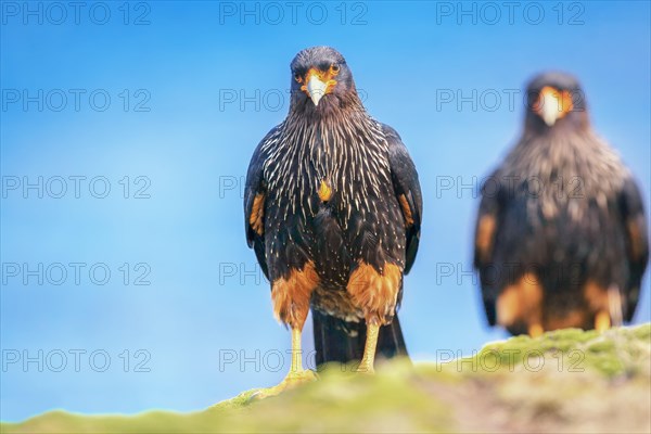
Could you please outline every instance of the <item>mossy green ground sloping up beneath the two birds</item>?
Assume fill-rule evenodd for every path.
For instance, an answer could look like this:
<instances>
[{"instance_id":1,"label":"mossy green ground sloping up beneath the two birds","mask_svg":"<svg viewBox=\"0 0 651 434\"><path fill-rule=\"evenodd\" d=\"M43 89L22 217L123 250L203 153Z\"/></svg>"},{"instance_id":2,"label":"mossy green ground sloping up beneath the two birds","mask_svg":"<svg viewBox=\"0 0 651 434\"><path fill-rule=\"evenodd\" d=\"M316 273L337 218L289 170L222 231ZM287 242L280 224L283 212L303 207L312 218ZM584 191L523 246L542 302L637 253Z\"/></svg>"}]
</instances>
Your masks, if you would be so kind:
<instances>
[{"instance_id":1,"label":"mossy green ground sloping up beneath the two birds","mask_svg":"<svg viewBox=\"0 0 651 434\"><path fill-rule=\"evenodd\" d=\"M447 363L392 361L372 376L330 369L318 382L252 403L254 392L191 413L51 411L0 431L649 433L651 324L519 336Z\"/></svg>"}]
</instances>

